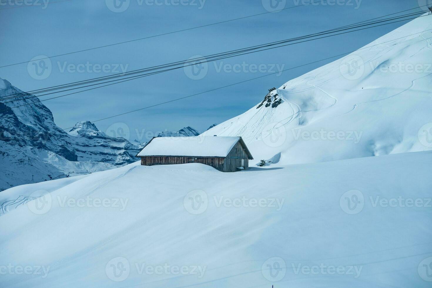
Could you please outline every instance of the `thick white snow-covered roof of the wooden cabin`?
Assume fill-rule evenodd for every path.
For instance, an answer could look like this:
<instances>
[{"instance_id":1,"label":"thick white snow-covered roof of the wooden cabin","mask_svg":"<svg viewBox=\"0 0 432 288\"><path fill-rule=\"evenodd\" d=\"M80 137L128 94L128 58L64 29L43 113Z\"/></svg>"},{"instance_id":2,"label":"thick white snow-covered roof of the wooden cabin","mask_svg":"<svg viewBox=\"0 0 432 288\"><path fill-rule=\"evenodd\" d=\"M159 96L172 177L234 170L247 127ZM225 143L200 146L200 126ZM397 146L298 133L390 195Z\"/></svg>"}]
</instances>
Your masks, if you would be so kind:
<instances>
[{"instance_id":1,"label":"thick white snow-covered roof of the wooden cabin","mask_svg":"<svg viewBox=\"0 0 432 288\"><path fill-rule=\"evenodd\" d=\"M156 137L137 156L226 157L239 139L229 136Z\"/></svg>"}]
</instances>

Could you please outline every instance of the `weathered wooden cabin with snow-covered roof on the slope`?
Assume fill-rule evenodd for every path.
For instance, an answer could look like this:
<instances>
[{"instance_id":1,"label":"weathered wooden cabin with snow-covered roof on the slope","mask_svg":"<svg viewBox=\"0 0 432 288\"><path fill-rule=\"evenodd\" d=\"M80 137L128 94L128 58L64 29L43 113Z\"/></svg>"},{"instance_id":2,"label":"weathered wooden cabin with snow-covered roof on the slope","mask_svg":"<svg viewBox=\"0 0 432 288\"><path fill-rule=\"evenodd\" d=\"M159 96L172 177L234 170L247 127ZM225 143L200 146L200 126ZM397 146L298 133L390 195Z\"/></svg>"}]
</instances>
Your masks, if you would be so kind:
<instances>
[{"instance_id":1,"label":"weathered wooden cabin with snow-covered roof on the slope","mask_svg":"<svg viewBox=\"0 0 432 288\"><path fill-rule=\"evenodd\" d=\"M228 136L153 137L137 157L146 166L201 163L222 172L247 169L254 159L241 137Z\"/></svg>"}]
</instances>

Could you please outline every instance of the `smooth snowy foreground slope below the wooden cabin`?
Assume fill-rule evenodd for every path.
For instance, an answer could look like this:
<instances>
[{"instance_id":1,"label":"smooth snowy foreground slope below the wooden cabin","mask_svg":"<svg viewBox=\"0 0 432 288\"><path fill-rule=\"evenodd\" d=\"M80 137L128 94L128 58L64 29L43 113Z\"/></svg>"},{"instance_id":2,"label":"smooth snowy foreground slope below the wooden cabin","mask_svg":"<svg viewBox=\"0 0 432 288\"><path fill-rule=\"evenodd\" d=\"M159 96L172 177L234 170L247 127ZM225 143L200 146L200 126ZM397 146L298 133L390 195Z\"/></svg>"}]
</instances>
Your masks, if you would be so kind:
<instances>
[{"instance_id":1,"label":"smooth snowy foreground slope below the wooden cabin","mask_svg":"<svg viewBox=\"0 0 432 288\"><path fill-rule=\"evenodd\" d=\"M0 266L12 271L1 283L430 287L431 161L426 151L237 173L134 163L23 185L2 193L45 196L0 217Z\"/></svg>"}]
</instances>

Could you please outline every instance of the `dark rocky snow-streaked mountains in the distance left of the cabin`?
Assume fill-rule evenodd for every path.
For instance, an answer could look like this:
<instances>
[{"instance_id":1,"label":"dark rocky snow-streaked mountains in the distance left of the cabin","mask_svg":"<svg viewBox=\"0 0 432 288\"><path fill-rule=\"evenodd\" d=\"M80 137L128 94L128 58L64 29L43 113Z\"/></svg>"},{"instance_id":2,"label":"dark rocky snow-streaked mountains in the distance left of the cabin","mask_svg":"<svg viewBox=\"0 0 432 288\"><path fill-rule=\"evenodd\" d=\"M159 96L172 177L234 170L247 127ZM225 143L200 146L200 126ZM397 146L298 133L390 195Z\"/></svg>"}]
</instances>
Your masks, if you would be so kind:
<instances>
[{"instance_id":1,"label":"dark rocky snow-streaked mountains in the distance left of the cabin","mask_svg":"<svg viewBox=\"0 0 432 288\"><path fill-rule=\"evenodd\" d=\"M16 93L22 91L0 79L0 97ZM37 97L30 97L25 94L17 101L0 102L0 191L137 160L137 146L107 136L88 121L66 133L54 123L51 111Z\"/></svg>"}]
</instances>

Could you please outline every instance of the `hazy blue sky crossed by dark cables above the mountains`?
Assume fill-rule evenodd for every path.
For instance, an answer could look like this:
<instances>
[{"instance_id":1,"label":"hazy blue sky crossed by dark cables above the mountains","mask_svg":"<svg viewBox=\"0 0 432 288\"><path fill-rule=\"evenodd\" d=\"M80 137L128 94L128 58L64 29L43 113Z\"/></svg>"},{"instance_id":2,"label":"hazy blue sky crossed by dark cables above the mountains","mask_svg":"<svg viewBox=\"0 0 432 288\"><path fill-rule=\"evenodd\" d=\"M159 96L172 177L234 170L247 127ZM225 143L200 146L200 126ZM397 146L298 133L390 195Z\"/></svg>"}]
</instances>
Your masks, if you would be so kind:
<instances>
[{"instance_id":1,"label":"hazy blue sky crossed by dark cables above the mountains","mask_svg":"<svg viewBox=\"0 0 432 288\"><path fill-rule=\"evenodd\" d=\"M122 5L117 2L118 5L113 6L114 0L0 1L7 2L0 6L0 66L29 61L40 55L64 54L264 13L271 7L286 8L310 2L125 0L127 2ZM48 5L45 5L47 1ZM273 6L270 6L270 1ZM0 77L23 91L29 91L311 34L414 8L419 3L425 5L429 1L432 4L431 0L329 1L54 57L51 59L51 73L42 75L44 79L35 79L38 77L32 75L27 63L0 68ZM122 9L125 10L119 12ZM67 128L77 121L101 119L353 51L403 23L219 60L208 64L205 76L195 77L200 79L191 79L194 77L188 77L190 71L179 69L43 103L53 112L57 125ZM267 89L279 87L328 62L331 60L96 122L95 125L108 132L113 127L121 127L130 131L127 135L130 140L142 141L146 137L143 132L149 132L147 136L151 136L158 131L178 130L184 126L202 132L212 123L221 123L247 111L264 99ZM105 71L99 71L103 65ZM48 96L41 97L44 98Z\"/></svg>"}]
</instances>

